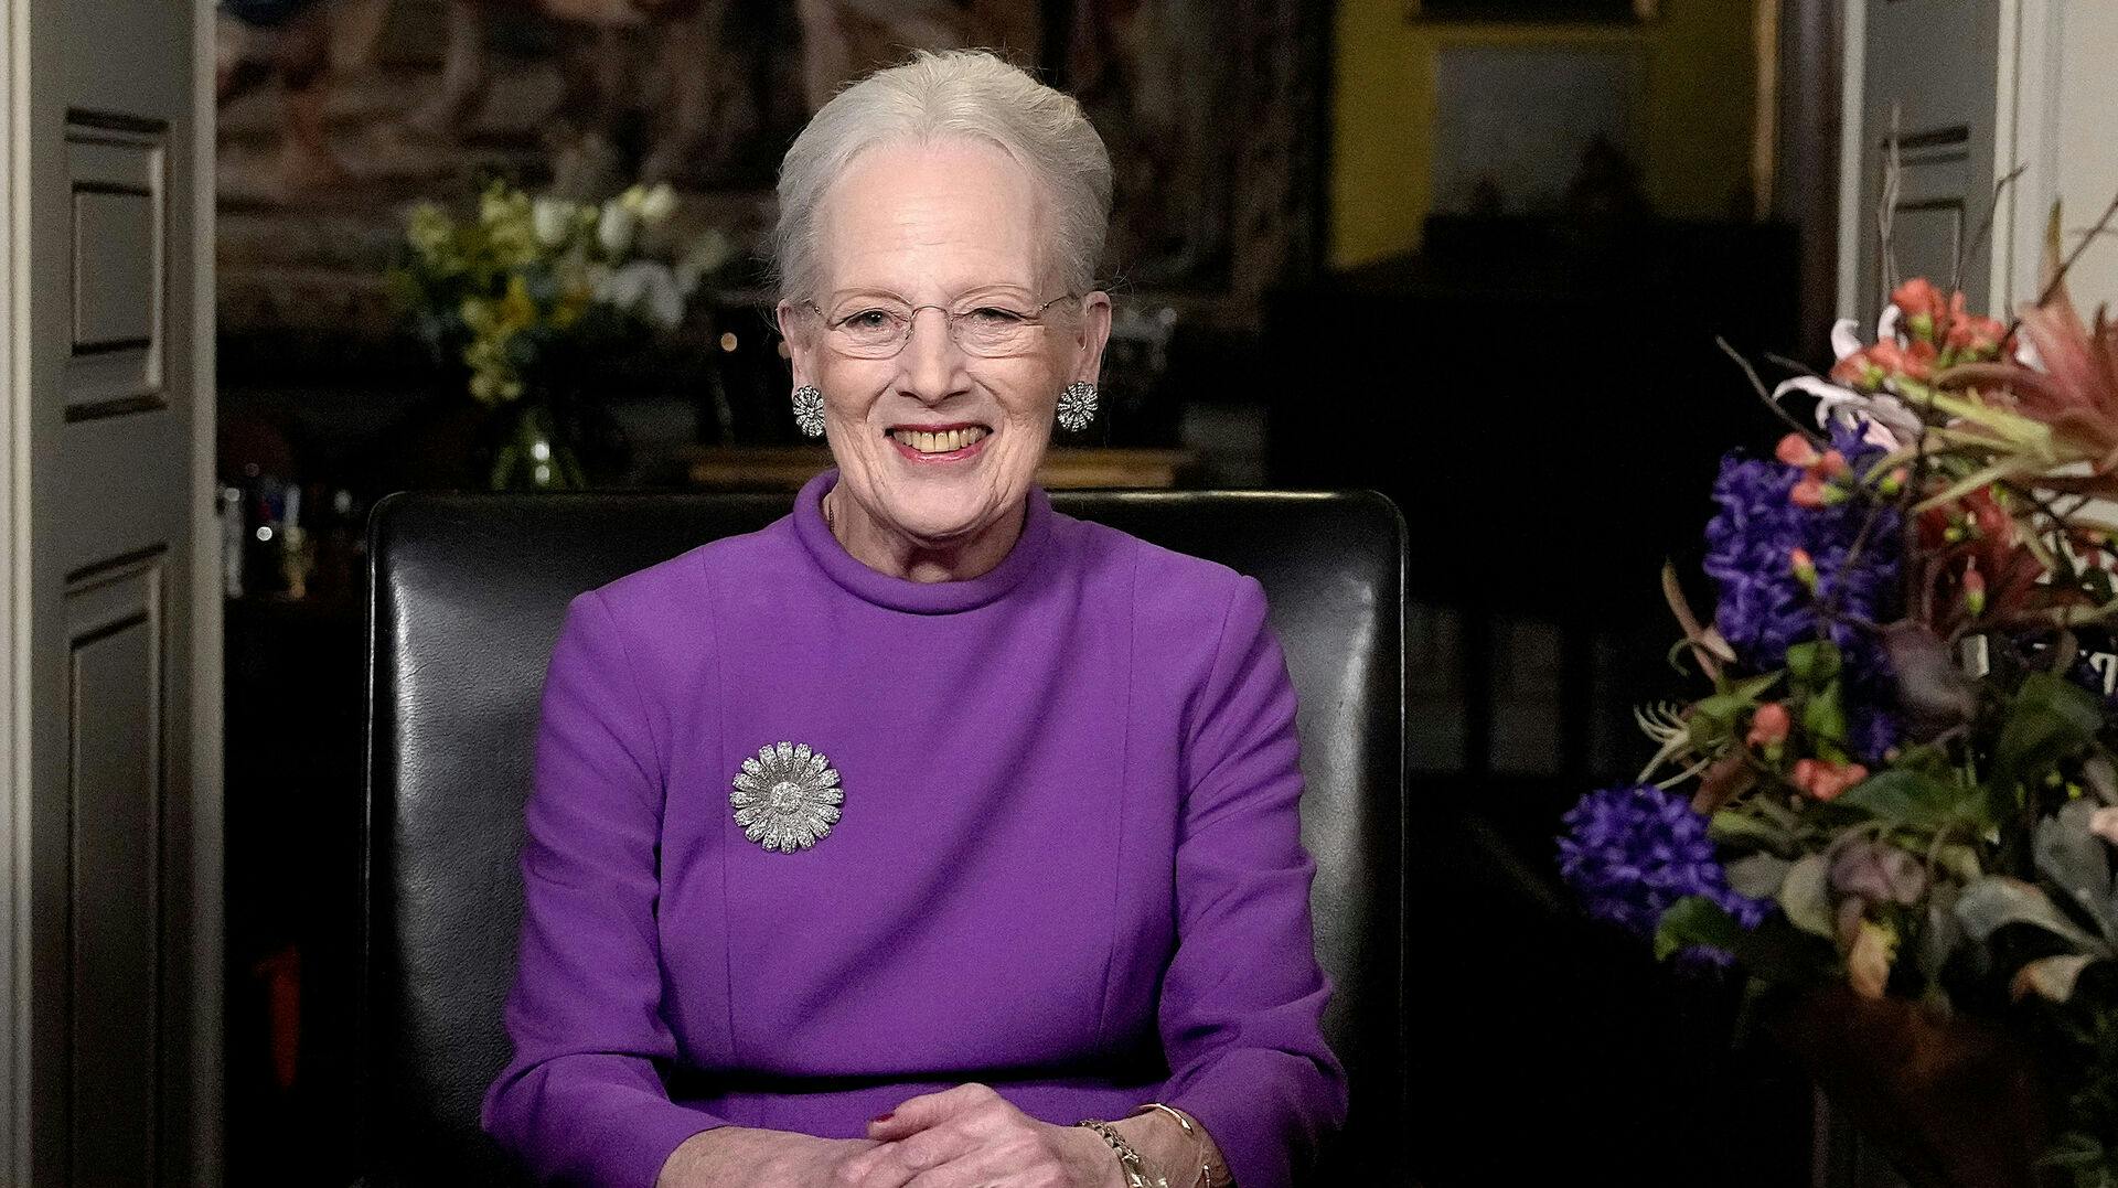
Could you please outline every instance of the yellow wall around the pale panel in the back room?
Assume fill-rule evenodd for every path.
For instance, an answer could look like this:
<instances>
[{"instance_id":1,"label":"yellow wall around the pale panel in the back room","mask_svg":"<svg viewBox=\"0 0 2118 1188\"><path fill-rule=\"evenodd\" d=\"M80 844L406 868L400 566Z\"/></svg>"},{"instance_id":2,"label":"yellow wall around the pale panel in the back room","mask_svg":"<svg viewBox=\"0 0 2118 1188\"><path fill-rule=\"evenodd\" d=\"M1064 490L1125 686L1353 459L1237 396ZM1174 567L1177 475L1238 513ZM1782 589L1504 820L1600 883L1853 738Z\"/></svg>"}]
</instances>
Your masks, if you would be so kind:
<instances>
[{"instance_id":1,"label":"yellow wall around the pale panel in the back room","mask_svg":"<svg viewBox=\"0 0 2118 1188\"><path fill-rule=\"evenodd\" d=\"M1339 0L1332 267L1419 246L1434 148L1434 57L1444 44L1639 44L1648 201L1722 216L1749 188L1756 93L1752 0L1663 0L1646 25L1415 23L1404 0Z\"/></svg>"}]
</instances>

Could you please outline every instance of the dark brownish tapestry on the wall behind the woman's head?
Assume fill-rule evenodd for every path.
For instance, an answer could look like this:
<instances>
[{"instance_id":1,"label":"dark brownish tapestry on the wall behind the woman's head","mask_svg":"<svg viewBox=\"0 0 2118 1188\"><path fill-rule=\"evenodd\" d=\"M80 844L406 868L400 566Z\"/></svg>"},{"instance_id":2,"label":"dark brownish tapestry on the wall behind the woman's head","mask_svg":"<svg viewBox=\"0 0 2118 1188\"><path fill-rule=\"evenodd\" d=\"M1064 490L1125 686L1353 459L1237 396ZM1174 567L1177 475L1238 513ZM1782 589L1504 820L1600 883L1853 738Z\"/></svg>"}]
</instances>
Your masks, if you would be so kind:
<instances>
[{"instance_id":1,"label":"dark brownish tapestry on the wall behind the woman's head","mask_svg":"<svg viewBox=\"0 0 2118 1188\"><path fill-rule=\"evenodd\" d=\"M754 301L773 172L907 47L995 47L1082 97L1116 165L1106 275L1254 322L1315 252L1309 0L222 0L220 324L381 335L419 199L669 182ZM1231 184L1231 178L1235 180Z\"/></svg>"}]
</instances>

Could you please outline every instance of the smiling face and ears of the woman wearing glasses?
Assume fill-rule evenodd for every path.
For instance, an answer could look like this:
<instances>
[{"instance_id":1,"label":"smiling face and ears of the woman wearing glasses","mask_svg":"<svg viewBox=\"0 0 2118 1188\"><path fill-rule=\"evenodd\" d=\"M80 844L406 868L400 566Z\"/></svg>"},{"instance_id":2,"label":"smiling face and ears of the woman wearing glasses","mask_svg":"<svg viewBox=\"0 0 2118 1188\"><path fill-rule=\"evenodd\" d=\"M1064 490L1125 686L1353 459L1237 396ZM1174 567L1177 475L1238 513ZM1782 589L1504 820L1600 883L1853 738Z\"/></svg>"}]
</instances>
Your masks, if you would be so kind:
<instances>
[{"instance_id":1,"label":"smiling face and ears of the woman wearing glasses","mask_svg":"<svg viewBox=\"0 0 2118 1188\"><path fill-rule=\"evenodd\" d=\"M779 324L794 383L824 392L841 498L913 551L1012 534L1059 392L1097 375L1110 299L1053 303L1044 326L1000 358L959 347L945 311L968 316L968 341L974 322L1006 324L1065 292L1042 188L983 142L885 144L839 176L815 227L818 286L784 301ZM940 309L919 309L892 358L854 358L826 328L885 324L877 309L921 305Z\"/></svg>"}]
</instances>

